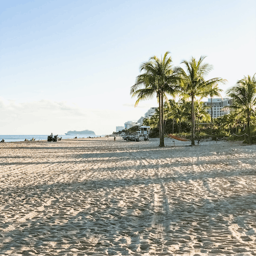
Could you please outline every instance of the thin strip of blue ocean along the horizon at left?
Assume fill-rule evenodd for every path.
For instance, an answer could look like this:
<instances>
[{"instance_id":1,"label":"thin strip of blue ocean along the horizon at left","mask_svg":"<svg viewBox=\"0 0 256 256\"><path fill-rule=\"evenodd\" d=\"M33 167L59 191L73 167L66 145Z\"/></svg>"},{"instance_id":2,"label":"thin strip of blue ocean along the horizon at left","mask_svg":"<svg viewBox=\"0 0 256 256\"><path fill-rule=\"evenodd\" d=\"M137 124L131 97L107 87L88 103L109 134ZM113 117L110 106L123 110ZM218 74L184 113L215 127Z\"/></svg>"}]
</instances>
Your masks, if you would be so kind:
<instances>
[{"instance_id":1,"label":"thin strip of blue ocean along the horizon at left","mask_svg":"<svg viewBox=\"0 0 256 256\"><path fill-rule=\"evenodd\" d=\"M50 134L49 134L50 135ZM53 136L56 134L53 134ZM48 135L0 135L0 141L4 139L5 142L14 142L14 141L25 141L31 140L34 138L35 140L47 140ZM87 135L58 135L58 137L62 137L62 139L74 139L78 138L95 138L95 137L104 137L105 135L95 135L95 134L87 134Z\"/></svg>"}]
</instances>

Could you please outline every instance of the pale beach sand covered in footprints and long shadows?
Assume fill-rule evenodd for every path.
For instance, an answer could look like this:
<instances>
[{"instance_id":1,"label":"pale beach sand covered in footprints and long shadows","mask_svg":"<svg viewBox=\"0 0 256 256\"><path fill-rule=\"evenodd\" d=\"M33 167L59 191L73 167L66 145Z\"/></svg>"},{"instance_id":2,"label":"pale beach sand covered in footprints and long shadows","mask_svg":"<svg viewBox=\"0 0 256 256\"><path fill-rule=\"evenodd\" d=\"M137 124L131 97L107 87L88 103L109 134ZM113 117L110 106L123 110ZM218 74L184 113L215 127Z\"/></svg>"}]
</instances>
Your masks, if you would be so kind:
<instances>
[{"instance_id":1,"label":"pale beach sand covered in footprints and long shadows","mask_svg":"<svg viewBox=\"0 0 256 256\"><path fill-rule=\"evenodd\" d=\"M0 255L256 255L256 146L0 144Z\"/></svg>"}]
</instances>

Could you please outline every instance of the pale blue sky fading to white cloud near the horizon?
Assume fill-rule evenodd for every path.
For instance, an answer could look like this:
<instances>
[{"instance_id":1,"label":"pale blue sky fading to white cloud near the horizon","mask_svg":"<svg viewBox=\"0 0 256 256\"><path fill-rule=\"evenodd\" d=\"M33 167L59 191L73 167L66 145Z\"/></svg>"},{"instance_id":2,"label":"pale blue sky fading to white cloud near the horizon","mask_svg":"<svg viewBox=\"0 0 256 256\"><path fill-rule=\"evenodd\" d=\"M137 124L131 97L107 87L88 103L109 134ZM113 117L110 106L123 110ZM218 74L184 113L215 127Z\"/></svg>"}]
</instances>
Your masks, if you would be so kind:
<instances>
[{"instance_id":1,"label":"pale blue sky fading to white cloud near the horizon","mask_svg":"<svg viewBox=\"0 0 256 256\"><path fill-rule=\"evenodd\" d=\"M157 107L130 95L153 55L206 55L222 97L252 76L256 1L3 1L0 40L0 134L111 134Z\"/></svg>"}]
</instances>

